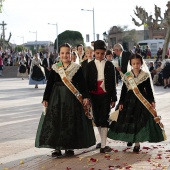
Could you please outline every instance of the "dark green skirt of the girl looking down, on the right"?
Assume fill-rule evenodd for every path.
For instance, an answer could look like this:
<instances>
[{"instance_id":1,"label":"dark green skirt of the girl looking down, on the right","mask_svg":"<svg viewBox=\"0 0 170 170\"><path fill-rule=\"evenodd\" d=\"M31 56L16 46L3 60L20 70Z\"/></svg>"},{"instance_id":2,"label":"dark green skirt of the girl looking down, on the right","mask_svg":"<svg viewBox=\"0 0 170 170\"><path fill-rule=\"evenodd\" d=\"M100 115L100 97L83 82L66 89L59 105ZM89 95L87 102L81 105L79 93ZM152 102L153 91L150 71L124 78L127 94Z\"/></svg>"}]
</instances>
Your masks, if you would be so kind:
<instances>
[{"instance_id":1,"label":"dark green skirt of the girl looking down, on the right","mask_svg":"<svg viewBox=\"0 0 170 170\"><path fill-rule=\"evenodd\" d=\"M127 95L117 122L112 122L108 137L126 142L164 141L162 129L132 90Z\"/></svg>"}]
</instances>

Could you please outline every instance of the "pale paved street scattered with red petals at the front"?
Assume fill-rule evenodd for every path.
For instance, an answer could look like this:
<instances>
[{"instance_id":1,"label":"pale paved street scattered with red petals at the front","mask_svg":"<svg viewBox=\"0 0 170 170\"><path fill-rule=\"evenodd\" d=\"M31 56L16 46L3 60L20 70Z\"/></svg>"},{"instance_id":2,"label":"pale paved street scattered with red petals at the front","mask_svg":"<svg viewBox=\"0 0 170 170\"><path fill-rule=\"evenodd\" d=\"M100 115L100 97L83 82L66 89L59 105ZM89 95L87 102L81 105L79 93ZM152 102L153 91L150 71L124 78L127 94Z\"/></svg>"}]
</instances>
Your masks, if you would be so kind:
<instances>
[{"instance_id":1,"label":"pale paved street scattered with red petals at the front","mask_svg":"<svg viewBox=\"0 0 170 170\"><path fill-rule=\"evenodd\" d=\"M155 87L157 112L162 117L167 140L142 143L139 154L126 143L108 140L113 151L100 154L95 146L76 150L74 157L51 158L51 149L34 147L42 112L45 85L35 89L28 79L0 79L0 170L114 170L169 169L170 165L170 88ZM118 86L118 96L120 85ZM96 137L99 135L95 128Z\"/></svg>"}]
</instances>

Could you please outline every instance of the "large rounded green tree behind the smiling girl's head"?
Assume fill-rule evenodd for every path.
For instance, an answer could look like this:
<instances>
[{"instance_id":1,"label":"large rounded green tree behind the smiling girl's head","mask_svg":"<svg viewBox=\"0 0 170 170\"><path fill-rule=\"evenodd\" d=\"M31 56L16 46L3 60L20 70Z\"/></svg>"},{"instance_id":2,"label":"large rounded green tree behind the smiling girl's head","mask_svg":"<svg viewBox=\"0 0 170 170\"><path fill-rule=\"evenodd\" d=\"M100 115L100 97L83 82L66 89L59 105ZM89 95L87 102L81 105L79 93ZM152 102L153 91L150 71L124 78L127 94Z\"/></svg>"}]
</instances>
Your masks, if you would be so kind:
<instances>
[{"instance_id":1,"label":"large rounded green tree behind the smiling girl's head","mask_svg":"<svg viewBox=\"0 0 170 170\"><path fill-rule=\"evenodd\" d=\"M69 43L75 47L77 44L84 45L84 39L80 32L66 30L58 35L58 46L64 43ZM54 43L54 48L56 49L56 40Z\"/></svg>"}]
</instances>

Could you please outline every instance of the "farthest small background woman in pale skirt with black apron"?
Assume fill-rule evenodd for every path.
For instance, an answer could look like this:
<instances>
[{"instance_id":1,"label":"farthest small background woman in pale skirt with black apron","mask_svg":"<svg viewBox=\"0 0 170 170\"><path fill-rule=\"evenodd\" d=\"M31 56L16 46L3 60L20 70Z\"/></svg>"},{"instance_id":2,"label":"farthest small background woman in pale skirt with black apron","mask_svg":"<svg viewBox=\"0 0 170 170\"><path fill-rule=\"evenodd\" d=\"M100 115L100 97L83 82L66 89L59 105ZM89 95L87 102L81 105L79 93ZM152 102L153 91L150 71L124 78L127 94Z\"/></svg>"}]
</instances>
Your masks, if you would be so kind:
<instances>
[{"instance_id":1,"label":"farthest small background woman in pale skirt with black apron","mask_svg":"<svg viewBox=\"0 0 170 170\"><path fill-rule=\"evenodd\" d=\"M18 68L17 76L22 77L22 80L24 80L24 77L28 76L27 68L26 68L26 59L23 55L21 55L21 59L19 61L19 68Z\"/></svg>"}]
</instances>

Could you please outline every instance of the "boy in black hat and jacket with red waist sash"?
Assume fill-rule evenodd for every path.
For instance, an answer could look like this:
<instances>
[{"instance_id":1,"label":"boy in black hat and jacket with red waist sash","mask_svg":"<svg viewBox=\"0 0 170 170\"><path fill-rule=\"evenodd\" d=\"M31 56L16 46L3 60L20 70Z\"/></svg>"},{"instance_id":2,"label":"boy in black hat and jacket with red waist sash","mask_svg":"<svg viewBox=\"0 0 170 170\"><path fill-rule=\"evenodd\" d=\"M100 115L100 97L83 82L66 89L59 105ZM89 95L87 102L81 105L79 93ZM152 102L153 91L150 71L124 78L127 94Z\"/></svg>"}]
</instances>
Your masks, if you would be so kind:
<instances>
[{"instance_id":1,"label":"boy in black hat and jacket with red waist sash","mask_svg":"<svg viewBox=\"0 0 170 170\"><path fill-rule=\"evenodd\" d=\"M112 62L105 59L106 44L102 40L94 42L95 59L87 64L87 86L91 96L94 123L98 128L101 143L96 145L100 153L111 152L106 146L109 127L109 112L117 100L115 68Z\"/></svg>"}]
</instances>

